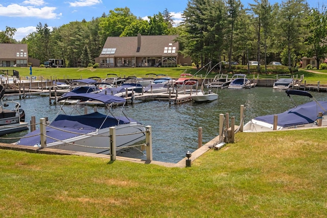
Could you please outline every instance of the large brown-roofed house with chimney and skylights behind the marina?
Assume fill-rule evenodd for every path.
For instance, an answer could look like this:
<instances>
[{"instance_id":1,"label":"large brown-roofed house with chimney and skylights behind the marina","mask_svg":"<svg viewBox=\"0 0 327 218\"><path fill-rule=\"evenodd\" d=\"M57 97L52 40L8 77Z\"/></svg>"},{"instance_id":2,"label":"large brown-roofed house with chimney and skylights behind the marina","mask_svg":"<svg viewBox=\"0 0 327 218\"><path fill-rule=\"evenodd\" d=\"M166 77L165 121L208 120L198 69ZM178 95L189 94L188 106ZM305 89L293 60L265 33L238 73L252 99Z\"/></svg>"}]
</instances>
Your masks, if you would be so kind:
<instances>
[{"instance_id":1,"label":"large brown-roofed house with chimney and skylights behind the marina","mask_svg":"<svg viewBox=\"0 0 327 218\"><path fill-rule=\"evenodd\" d=\"M108 37L96 62L100 67L191 65L178 53L177 35Z\"/></svg>"}]
</instances>

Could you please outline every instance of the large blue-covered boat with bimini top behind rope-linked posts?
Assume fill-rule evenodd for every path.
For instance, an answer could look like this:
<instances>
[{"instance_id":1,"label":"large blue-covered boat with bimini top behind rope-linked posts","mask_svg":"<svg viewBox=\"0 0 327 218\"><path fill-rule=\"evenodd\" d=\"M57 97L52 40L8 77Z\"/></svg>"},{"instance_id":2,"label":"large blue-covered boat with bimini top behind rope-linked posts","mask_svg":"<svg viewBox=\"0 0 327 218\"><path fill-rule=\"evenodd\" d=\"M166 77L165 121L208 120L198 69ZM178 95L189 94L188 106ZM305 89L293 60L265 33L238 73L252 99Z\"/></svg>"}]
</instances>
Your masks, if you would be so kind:
<instances>
[{"instance_id":1,"label":"large blue-covered boat with bimini top behind rope-linked posts","mask_svg":"<svg viewBox=\"0 0 327 218\"><path fill-rule=\"evenodd\" d=\"M145 139L145 126L127 117L123 112L126 102L124 98L102 93L71 92L61 97L59 101L69 99L101 101L106 105L107 112L106 114L99 112L83 114L81 111L77 115L73 115L73 112L78 111L80 107L75 105L72 109L72 106L68 106L68 108L72 109L72 112L67 112L64 111L65 105L63 105L55 118L45 128L46 148L110 154L110 127L115 127L117 149L132 146L136 142ZM110 110L113 105L122 105L120 113L116 116ZM82 109L84 108L80 108L80 110ZM15 144L41 147L39 134L40 130L30 132Z\"/></svg>"}]
</instances>

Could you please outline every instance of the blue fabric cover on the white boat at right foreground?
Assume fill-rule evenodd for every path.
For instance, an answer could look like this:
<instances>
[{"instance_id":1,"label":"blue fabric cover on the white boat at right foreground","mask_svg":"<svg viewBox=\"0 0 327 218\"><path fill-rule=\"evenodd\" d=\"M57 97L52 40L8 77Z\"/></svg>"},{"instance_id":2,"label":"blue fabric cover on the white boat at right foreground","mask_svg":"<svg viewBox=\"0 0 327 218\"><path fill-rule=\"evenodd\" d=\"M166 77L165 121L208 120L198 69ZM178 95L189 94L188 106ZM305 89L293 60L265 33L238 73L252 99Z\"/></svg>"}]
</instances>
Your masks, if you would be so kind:
<instances>
[{"instance_id":1,"label":"blue fabric cover on the white boat at right foreground","mask_svg":"<svg viewBox=\"0 0 327 218\"><path fill-rule=\"evenodd\" d=\"M292 90L294 91L294 90ZM327 102L319 101L320 105L326 110ZM323 112L316 102L308 102L299 105L295 108L289 109L283 113L276 114L277 125L281 127L290 127L295 125L311 124L314 123L318 117L318 112ZM254 119L273 124L274 114L258 116Z\"/></svg>"}]
</instances>

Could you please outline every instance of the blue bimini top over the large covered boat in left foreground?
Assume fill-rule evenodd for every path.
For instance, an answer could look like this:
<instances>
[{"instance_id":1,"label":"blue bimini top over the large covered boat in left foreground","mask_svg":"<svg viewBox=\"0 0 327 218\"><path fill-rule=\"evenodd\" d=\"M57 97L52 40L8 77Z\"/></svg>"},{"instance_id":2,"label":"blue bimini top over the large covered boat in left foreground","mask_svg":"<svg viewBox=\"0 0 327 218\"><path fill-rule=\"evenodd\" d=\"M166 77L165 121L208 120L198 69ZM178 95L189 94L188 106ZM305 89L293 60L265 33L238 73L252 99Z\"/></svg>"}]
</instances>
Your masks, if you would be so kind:
<instances>
[{"instance_id":1,"label":"blue bimini top over the large covered boat in left foreground","mask_svg":"<svg viewBox=\"0 0 327 218\"><path fill-rule=\"evenodd\" d=\"M65 96L62 96L59 101L63 101L66 99L71 100L81 100L87 101L89 99L102 102L106 105L111 103L124 103L126 100L119 96L111 95L111 94L103 94L103 93L74 93L74 92L67 92Z\"/></svg>"}]
</instances>

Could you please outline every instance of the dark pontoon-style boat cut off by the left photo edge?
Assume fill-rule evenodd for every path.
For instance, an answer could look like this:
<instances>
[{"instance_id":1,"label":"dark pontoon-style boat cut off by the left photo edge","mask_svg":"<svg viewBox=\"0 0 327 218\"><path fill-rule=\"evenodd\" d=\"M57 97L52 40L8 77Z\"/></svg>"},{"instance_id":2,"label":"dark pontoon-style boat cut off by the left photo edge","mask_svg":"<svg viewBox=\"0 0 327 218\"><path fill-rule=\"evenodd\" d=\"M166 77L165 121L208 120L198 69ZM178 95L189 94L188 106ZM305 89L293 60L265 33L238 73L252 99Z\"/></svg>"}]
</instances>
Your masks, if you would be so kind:
<instances>
[{"instance_id":1,"label":"dark pontoon-style boat cut off by the left photo edge","mask_svg":"<svg viewBox=\"0 0 327 218\"><path fill-rule=\"evenodd\" d=\"M25 122L25 111L15 101L3 101L5 87L0 85L0 135L28 130L28 123ZM5 109L12 106L13 109Z\"/></svg>"}]
</instances>

